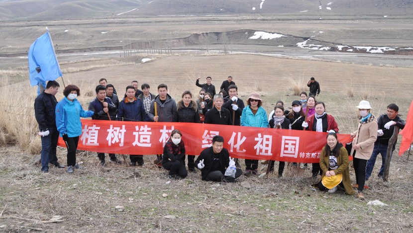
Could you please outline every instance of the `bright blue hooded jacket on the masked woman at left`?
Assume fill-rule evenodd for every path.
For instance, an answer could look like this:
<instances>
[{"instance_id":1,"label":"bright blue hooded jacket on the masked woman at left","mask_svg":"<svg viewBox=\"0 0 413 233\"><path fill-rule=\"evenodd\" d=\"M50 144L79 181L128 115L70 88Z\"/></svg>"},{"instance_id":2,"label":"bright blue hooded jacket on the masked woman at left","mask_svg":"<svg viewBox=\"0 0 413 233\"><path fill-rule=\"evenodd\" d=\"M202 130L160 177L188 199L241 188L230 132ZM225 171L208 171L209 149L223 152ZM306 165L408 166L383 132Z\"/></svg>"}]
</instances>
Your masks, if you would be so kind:
<instances>
[{"instance_id":1,"label":"bright blue hooded jacket on the masked woman at left","mask_svg":"<svg viewBox=\"0 0 413 233\"><path fill-rule=\"evenodd\" d=\"M94 112L85 111L77 99L70 101L65 96L56 105L56 127L60 136L67 134L69 138L82 134L81 117L91 117Z\"/></svg>"}]
</instances>

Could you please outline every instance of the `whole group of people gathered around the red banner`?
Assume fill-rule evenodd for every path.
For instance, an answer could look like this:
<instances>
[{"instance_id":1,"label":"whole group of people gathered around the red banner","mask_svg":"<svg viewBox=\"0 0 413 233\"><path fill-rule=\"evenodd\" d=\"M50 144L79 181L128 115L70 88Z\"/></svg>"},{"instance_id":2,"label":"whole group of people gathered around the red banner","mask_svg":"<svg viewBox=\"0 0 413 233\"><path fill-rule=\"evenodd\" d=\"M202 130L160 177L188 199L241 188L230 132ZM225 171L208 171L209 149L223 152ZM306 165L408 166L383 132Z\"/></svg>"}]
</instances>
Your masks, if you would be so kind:
<instances>
[{"instance_id":1,"label":"whole group of people gathered around the red banner","mask_svg":"<svg viewBox=\"0 0 413 233\"><path fill-rule=\"evenodd\" d=\"M350 183L349 157L347 150L337 140L339 131L334 117L327 114L325 104L316 101L315 96L320 92L319 84L311 78L308 86L310 95L303 91L299 100L292 102L292 111L284 108L284 103L278 101L274 111L267 115L263 108L263 100L260 94L250 93L246 99L246 105L238 98L238 87L229 76L224 80L220 93L215 93L215 87L211 84L211 77L206 78L205 84L196 85L202 87L199 96L193 100L190 91L184 91L182 99L175 101L168 94L168 86L159 84L157 95L150 93L147 83L138 89L138 82L133 80L131 85L125 88L125 94L119 101L116 90L112 84L108 84L105 78L96 86L96 98L89 103L88 111L83 110L77 100L80 89L76 85L68 85L63 90L64 98L57 102L55 94L58 92L59 83L49 81L46 89L35 100L35 116L39 124L39 135L42 139L41 163L42 172L48 172L49 163L57 167L64 167L57 161L57 139L63 138L67 152L67 172L73 173L79 168L76 163L76 150L79 136L82 134L81 117L92 117L98 120L120 121L153 121L153 122L189 122L220 125L237 125L249 127L262 127L287 130L309 130L315 132L327 132L326 145L322 149L318 163L312 163L312 176L317 178L315 184L320 190L335 192L337 186L344 188L347 194L353 194L357 189L357 197L364 198L363 188L365 180L371 176L372 169L378 154L382 155L383 164L379 177L383 176L384 162L386 160L387 145L397 125L403 129L405 122L399 118L399 107L396 104L387 106L387 114L378 119L370 112L368 101L361 101L356 107L359 109L360 123L358 130L351 133L354 138L351 155L354 157L354 171L356 183ZM314 87L315 86L315 87ZM169 170L169 178L185 178L188 175L186 169L185 145L182 141L182 133L174 130L165 144L163 155L158 155L157 164ZM223 148L224 139L215 136L212 139L212 147L205 149L195 160L196 155L188 155L188 170L196 172L201 169L202 179L206 181L235 182L243 171L239 168L236 159L231 159L228 151ZM395 147L393 147L395 150ZM143 155L129 155L132 166L144 164ZM100 165L104 166L105 155L98 153ZM115 154L109 154L110 161L121 163ZM231 162L236 163L231 166ZM257 159L245 159L244 175L259 175ZM274 170L275 161L268 163L269 170ZM293 163L293 166L299 164ZM308 164L300 164L305 168ZM226 170L233 168L231 175ZM279 162L278 176L282 177L285 162ZM339 181L339 182L338 182Z\"/></svg>"}]
</instances>

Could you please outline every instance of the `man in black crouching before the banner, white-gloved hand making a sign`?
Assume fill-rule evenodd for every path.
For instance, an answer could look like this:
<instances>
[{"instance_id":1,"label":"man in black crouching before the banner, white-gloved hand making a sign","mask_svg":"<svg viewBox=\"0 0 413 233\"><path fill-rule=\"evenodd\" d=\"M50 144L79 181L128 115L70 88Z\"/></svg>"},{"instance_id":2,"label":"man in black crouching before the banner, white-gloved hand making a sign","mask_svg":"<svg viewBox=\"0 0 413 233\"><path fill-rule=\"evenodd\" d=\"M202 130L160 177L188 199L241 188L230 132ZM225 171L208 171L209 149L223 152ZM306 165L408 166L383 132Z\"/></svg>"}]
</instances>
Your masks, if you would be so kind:
<instances>
[{"instance_id":1,"label":"man in black crouching before the banner, white-gloved hand making a sign","mask_svg":"<svg viewBox=\"0 0 413 233\"><path fill-rule=\"evenodd\" d=\"M202 180L214 182L236 182L241 176L242 170L236 168L235 177L225 176L225 170L229 166L228 150L223 148L224 138L215 135L212 138L212 147L206 148L198 156L195 164L201 169Z\"/></svg>"}]
</instances>

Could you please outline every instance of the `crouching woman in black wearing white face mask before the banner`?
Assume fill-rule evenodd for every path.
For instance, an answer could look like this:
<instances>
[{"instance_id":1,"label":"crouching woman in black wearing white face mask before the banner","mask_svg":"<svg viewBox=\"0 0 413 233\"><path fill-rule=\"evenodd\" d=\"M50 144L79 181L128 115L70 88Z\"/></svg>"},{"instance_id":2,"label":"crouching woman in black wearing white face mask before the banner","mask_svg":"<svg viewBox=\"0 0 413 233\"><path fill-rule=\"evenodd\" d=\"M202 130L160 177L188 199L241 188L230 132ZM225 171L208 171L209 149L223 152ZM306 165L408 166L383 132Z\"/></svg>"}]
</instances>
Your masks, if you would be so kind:
<instances>
[{"instance_id":1,"label":"crouching woman in black wearing white face mask before the banner","mask_svg":"<svg viewBox=\"0 0 413 233\"><path fill-rule=\"evenodd\" d=\"M188 171L185 168L185 145L182 141L182 133L173 130L171 137L164 147L162 166L169 170L168 179L185 178Z\"/></svg>"}]
</instances>

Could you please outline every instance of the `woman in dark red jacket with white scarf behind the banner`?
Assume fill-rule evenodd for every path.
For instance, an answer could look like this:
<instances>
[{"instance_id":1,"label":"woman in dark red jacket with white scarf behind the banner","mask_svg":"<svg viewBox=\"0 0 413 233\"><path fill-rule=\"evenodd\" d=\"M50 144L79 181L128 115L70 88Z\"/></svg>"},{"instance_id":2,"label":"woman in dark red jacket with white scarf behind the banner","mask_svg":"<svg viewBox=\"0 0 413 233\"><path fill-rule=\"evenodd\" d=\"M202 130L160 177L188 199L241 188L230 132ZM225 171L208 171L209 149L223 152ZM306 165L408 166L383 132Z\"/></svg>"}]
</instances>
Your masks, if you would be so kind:
<instances>
[{"instance_id":1,"label":"woman in dark red jacket with white scarf behind the banner","mask_svg":"<svg viewBox=\"0 0 413 233\"><path fill-rule=\"evenodd\" d=\"M315 103L315 114L307 118L307 122L303 123L303 127L310 131L338 133L338 125L333 116L325 112L323 102ZM316 178L321 175L320 163L312 163L312 177Z\"/></svg>"}]
</instances>

